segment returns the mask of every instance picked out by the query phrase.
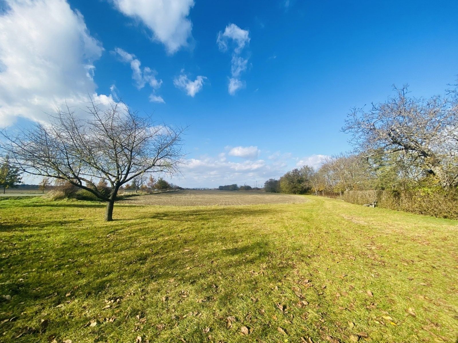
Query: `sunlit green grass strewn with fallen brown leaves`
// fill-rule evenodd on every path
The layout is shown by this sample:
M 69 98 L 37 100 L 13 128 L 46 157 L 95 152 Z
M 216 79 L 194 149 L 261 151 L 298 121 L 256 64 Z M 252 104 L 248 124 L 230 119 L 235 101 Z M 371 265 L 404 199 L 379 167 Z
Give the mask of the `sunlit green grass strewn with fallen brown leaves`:
M 456 341 L 458 221 L 309 198 L 0 201 L 0 341 Z

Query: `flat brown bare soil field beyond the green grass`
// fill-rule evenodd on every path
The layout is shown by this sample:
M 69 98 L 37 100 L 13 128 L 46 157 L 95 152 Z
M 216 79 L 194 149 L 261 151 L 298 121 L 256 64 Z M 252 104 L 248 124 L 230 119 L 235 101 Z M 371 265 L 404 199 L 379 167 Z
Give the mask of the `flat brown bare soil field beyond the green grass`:
M 208 205 L 255 205 L 255 204 L 301 204 L 305 197 L 291 194 L 262 193 L 251 191 L 183 190 L 178 192 L 139 195 L 120 201 L 123 204 L 208 206 Z

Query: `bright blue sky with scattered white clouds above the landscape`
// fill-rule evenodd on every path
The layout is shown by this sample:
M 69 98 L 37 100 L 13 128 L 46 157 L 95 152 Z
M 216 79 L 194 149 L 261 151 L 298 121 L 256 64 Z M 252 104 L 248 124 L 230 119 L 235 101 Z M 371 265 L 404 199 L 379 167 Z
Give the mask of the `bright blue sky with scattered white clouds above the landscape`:
M 317 166 L 349 150 L 339 130 L 350 107 L 384 101 L 392 84 L 443 94 L 458 74 L 457 1 L 0 4 L 0 120 L 121 96 L 190 125 L 172 179 L 185 187 Z

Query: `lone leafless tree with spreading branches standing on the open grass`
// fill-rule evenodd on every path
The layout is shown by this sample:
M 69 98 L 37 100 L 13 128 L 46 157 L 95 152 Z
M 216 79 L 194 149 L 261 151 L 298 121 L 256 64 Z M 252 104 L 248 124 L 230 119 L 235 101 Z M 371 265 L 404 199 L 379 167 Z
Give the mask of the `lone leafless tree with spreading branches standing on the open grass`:
M 124 103 L 103 109 L 92 103 L 88 116 L 78 118 L 69 107 L 16 132 L 0 131 L 2 154 L 20 171 L 66 180 L 106 201 L 105 220 L 113 220 L 120 187 L 145 172 L 178 171 L 184 156 L 184 129 L 140 116 Z M 105 180 L 104 194 L 93 178 Z

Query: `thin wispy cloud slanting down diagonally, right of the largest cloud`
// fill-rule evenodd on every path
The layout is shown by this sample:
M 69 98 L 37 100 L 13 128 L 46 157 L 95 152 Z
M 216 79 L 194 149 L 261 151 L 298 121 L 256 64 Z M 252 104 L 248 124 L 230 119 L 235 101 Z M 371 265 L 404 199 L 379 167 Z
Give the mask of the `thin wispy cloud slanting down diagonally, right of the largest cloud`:
M 161 96 L 155 95 L 155 91 L 162 86 L 162 80 L 156 79 L 156 75 L 158 74 L 156 70 L 152 70 L 149 67 L 142 69 L 140 60 L 137 59 L 134 54 L 129 54 L 121 48 L 114 48 L 114 54 L 116 54 L 122 62 L 131 65 L 132 79 L 135 81 L 137 89 L 142 89 L 148 84 L 153 88 L 153 93 L 149 96 L 150 101 L 165 103 Z M 158 99 L 160 100 L 158 101 Z

